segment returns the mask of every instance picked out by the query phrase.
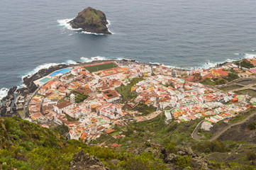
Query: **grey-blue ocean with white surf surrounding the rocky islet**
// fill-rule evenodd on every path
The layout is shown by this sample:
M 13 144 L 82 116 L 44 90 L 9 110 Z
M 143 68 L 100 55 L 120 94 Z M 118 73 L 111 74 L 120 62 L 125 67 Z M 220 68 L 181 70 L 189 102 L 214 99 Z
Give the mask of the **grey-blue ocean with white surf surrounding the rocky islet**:
M 255 0 L 0 4 L 0 98 L 22 77 L 60 63 L 124 58 L 190 69 L 256 55 Z M 65 20 L 88 6 L 106 14 L 113 35 L 69 29 Z

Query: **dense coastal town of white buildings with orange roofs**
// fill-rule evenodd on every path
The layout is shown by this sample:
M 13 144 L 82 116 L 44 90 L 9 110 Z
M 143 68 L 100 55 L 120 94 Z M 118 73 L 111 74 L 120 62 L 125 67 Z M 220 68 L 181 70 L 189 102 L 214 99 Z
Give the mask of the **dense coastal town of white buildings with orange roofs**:
M 256 98 L 235 91 L 247 85 L 233 81 L 254 79 L 255 65 L 255 59 L 195 70 L 138 62 L 84 63 L 34 81 L 38 90 L 23 116 L 45 128 L 65 125 L 69 139 L 87 142 L 114 134 L 116 125 L 151 120 L 161 113 L 166 124 L 204 118 L 201 128 L 209 130 L 254 108 Z

